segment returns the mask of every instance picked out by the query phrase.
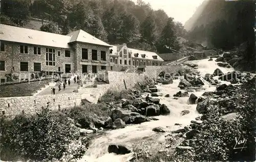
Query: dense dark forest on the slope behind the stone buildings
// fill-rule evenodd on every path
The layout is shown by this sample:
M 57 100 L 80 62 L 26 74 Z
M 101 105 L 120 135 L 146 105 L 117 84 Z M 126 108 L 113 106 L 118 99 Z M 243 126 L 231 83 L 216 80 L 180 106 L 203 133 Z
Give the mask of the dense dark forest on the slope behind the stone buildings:
M 1 23 L 22 27 L 29 17 L 51 21 L 42 31 L 68 34 L 82 29 L 110 44 L 126 43 L 159 53 L 180 49 L 185 30 L 163 10 L 138 0 L 2 0 Z M 57 24 L 57 26 L 56 26 Z

